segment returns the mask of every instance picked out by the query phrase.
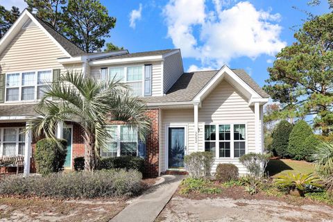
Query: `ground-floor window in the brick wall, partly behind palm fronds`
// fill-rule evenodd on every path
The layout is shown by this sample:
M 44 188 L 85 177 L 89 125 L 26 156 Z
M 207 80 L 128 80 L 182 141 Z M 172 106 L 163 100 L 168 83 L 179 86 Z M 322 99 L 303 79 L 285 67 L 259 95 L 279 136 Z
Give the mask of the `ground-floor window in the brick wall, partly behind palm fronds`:
M 126 125 L 109 126 L 110 140 L 107 150 L 101 151 L 102 157 L 116 157 L 120 155 L 137 156 L 137 130 Z

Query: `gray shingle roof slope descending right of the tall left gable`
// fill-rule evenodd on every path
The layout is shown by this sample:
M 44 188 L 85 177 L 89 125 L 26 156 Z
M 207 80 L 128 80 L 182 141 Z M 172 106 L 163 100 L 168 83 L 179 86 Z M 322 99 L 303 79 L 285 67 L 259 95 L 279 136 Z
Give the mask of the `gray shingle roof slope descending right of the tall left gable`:
M 47 22 L 44 22 L 42 19 L 38 18 L 37 16 L 33 15 L 35 19 L 46 29 L 52 37 L 56 39 L 56 41 L 69 53 L 71 56 L 83 56 L 87 53 L 80 49 L 76 44 L 69 41 L 65 36 L 58 33 L 53 27 L 50 26 Z

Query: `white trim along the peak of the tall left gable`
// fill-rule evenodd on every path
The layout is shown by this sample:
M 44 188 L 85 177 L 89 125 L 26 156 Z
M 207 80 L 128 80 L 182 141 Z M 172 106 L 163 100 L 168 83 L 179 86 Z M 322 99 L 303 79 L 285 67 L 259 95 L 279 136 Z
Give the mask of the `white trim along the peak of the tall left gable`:
M 37 19 L 35 19 L 35 17 L 33 17 L 33 15 L 31 15 L 31 13 L 28 12 L 28 10 L 24 10 L 22 12 L 22 14 L 16 20 L 16 22 L 14 24 L 12 24 L 10 29 L 1 38 L 1 40 L 0 40 L 0 54 L 3 52 L 3 50 L 6 49 L 8 44 L 10 44 L 10 42 L 14 39 L 15 35 L 17 35 L 17 33 L 19 33 L 22 26 L 24 26 L 24 24 L 28 21 L 28 19 L 31 19 L 37 25 L 37 27 L 42 29 L 42 31 L 44 31 L 44 33 L 47 35 L 47 37 L 49 37 L 52 40 L 52 42 L 54 44 L 56 44 L 63 53 L 65 53 L 66 56 L 71 57 L 71 55 L 64 49 L 64 47 L 62 47 L 59 44 L 59 42 L 57 42 L 56 39 L 48 31 L 46 31 L 46 29 L 37 21 Z

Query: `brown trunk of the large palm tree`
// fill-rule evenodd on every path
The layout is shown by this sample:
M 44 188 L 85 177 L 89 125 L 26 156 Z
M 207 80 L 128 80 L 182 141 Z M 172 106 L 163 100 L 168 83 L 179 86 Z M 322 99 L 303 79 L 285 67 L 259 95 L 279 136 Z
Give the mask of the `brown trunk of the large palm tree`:
M 97 167 L 95 138 L 92 133 L 85 133 L 85 171 L 94 171 Z

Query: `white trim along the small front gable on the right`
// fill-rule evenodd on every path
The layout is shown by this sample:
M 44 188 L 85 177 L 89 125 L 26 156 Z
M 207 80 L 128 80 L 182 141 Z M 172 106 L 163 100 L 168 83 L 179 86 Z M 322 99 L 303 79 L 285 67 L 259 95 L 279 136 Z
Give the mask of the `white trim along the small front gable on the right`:
M 212 80 L 210 80 L 210 82 L 194 97 L 193 101 L 200 102 L 203 96 L 207 94 L 209 89 L 214 87 L 216 83 L 219 83 L 223 78 L 225 78 L 225 74 L 227 74 L 228 76 L 230 76 L 230 78 L 234 79 L 237 83 L 239 83 L 239 85 L 251 95 L 251 98 L 262 99 L 262 96 L 255 92 L 255 90 L 252 89 L 247 83 L 245 83 L 244 80 L 241 80 L 241 78 L 239 78 L 237 74 L 235 74 L 234 71 L 232 71 L 228 66 L 224 65 L 217 72 L 214 78 L 212 78 Z

